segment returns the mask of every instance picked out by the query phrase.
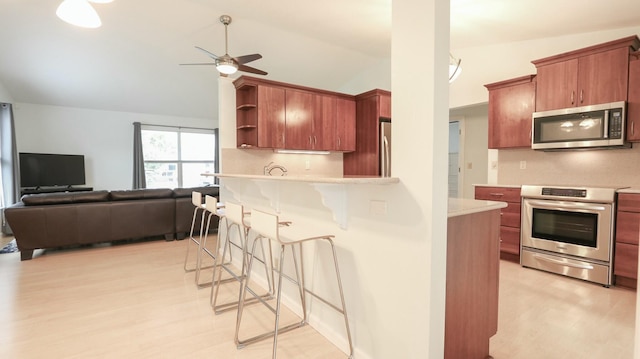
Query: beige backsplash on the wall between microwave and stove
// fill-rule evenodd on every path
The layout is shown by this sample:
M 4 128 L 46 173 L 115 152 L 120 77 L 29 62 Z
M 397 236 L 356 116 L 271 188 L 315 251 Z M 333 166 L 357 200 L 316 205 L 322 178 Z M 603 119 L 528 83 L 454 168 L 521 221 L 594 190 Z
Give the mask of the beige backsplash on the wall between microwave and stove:
M 640 144 L 611 150 L 500 150 L 498 184 L 640 187 Z

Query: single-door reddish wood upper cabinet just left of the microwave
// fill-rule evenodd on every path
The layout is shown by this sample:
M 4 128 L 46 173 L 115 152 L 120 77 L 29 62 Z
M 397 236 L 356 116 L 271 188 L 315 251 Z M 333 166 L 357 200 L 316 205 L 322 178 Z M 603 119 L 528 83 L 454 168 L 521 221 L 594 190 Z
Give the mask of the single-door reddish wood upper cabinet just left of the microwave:
M 531 147 L 536 76 L 485 85 L 489 90 L 489 148 Z

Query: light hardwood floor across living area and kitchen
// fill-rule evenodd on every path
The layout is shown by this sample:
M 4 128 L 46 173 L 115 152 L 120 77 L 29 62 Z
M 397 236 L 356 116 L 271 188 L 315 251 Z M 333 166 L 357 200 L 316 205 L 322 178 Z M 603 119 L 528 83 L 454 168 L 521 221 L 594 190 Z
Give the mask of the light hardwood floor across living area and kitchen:
M 25 262 L 1 254 L 0 358 L 270 358 L 269 340 L 236 349 L 235 312 L 213 314 L 209 289 L 182 270 L 184 249 L 184 241 L 159 240 L 37 251 Z M 256 324 L 243 330 L 268 329 L 271 317 L 250 308 L 246 322 Z M 634 313 L 634 291 L 502 262 L 491 354 L 630 359 Z M 309 326 L 281 335 L 278 354 L 346 357 Z

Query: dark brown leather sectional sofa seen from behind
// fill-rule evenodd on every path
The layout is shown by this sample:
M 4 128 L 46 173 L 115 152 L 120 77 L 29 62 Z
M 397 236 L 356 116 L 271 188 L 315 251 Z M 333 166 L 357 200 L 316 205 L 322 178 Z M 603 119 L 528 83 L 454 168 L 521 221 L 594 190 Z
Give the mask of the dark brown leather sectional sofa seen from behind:
M 219 196 L 218 186 L 128 191 L 34 194 L 5 209 L 21 260 L 35 249 L 189 234 L 194 206 L 191 192 Z M 200 229 L 197 217 L 196 228 Z M 213 216 L 211 228 L 216 230 Z

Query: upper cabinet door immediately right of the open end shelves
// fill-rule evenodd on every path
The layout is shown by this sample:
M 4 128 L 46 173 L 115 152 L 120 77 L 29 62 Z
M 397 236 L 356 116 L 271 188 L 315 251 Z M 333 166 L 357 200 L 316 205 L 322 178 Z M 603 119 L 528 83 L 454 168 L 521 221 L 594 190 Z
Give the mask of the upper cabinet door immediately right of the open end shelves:
M 258 147 L 284 148 L 285 91 L 258 86 Z

